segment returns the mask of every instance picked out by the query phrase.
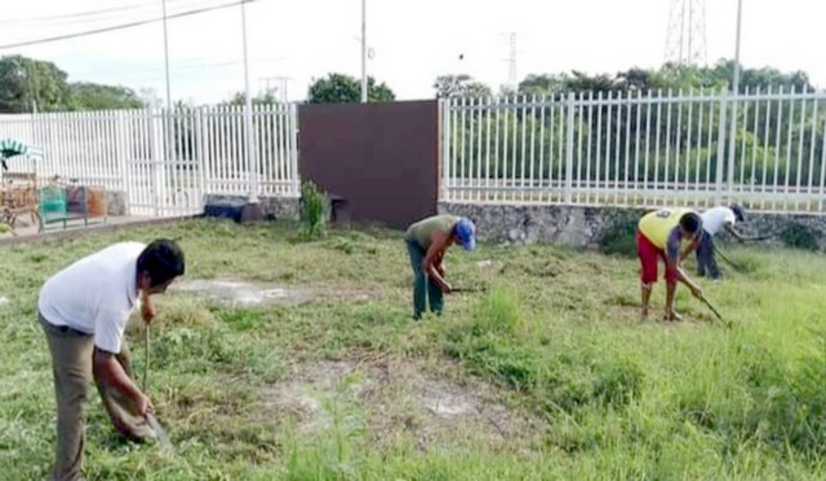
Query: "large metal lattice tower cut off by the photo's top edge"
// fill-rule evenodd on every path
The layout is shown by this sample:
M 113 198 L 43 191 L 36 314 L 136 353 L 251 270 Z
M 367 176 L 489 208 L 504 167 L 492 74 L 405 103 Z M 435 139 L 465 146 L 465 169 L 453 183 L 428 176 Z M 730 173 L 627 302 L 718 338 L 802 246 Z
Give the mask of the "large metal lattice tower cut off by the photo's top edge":
M 705 0 L 672 0 L 667 35 L 667 63 L 705 66 Z

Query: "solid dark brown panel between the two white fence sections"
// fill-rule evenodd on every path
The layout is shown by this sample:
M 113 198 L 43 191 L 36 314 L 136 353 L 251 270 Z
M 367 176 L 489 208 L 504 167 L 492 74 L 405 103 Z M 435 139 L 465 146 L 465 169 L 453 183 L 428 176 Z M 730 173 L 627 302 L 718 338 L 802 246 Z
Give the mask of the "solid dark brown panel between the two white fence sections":
M 298 111 L 301 178 L 346 200 L 349 219 L 404 229 L 436 213 L 439 104 L 306 104 Z

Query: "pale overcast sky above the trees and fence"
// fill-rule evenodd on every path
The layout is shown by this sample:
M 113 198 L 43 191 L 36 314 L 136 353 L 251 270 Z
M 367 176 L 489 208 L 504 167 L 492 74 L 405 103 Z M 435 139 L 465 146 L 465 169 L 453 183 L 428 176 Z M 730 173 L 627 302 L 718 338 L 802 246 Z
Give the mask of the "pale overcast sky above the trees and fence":
M 696 1 L 696 0 L 695 0 Z M 168 13 L 237 0 L 167 0 Z M 469 73 L 497 88 L 508 80 L 508 37 L 517 34 L 517 77 L 579 69 L 657 67 L 672 0 L 368 0 L 368 74 L 400 100 L 433 97 L 434 78 Z M 161 0 L 3 2 L 0 54 L 48 59 L 73 81 L 154 88 L 164 98 L 163 24 L 5 48 L 161 16 Z M 733 58 L 736 0 L 707 0 L 708 61 Z M 748 67 L 803 69 L 826 87 L 822 0 L 743 0 L 741 59 Z M 311 78 L 360 75 L 360 0 L 255 0 L 246 6 L 250 87 L 287 77 L 289 100 Z M 173 99 L 220 101 L 243 91 L 240 7 L 169 20 Z M 459 60 L 459 54 L 464 55 Z M 278 81 L 271 80 L 274 85 Z

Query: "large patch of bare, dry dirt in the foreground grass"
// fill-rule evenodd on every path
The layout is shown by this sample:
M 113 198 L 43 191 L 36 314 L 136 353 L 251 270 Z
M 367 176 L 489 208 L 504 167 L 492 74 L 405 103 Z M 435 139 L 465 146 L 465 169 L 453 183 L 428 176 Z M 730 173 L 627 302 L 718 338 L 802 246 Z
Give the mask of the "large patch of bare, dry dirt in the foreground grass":
M 262 415 L 287 417 L 305 434 L 364 425 L 374 442 L 411 436 L 421 449 L 469 436 L 507 445 L 529 440 L 539 426 L 498 402 L 487 384 L 425 374 L 408 362 L 387 360 L 297 365 L 263 393 Z

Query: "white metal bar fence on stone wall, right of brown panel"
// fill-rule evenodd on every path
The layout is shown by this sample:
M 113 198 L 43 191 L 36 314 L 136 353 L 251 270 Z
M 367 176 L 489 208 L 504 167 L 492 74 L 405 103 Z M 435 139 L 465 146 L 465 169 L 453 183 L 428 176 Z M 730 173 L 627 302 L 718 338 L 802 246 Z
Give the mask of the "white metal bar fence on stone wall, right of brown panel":
M 826 92 L 453 98 L 440 112 L 442 200 L 824 212 Z

